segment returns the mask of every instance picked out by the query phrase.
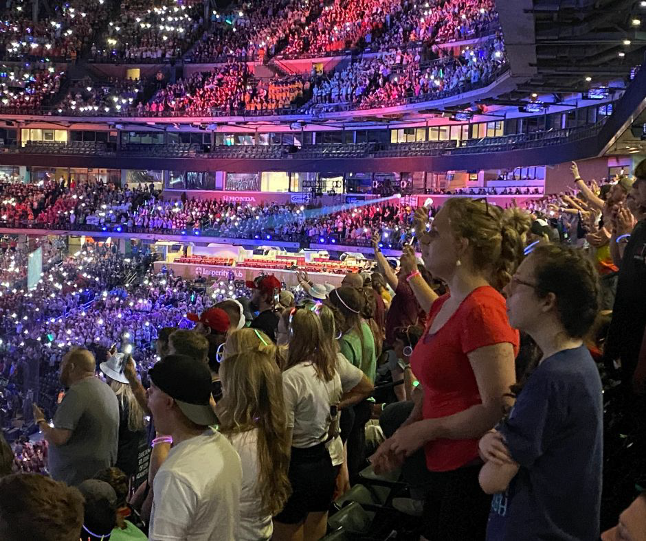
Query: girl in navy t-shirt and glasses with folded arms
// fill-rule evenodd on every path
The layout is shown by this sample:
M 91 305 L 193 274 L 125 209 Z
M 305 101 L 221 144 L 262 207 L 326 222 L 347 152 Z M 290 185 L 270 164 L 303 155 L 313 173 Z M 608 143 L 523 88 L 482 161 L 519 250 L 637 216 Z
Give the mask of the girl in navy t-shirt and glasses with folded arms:
M 493 494 L 487 541 L 599 539 L 601 378 L 583 336 L 597 316 L 597 273 L 575 250 L 538 246 L 506 288 L 509 323 L 542 358 L 509 416 L 480 440 Z

